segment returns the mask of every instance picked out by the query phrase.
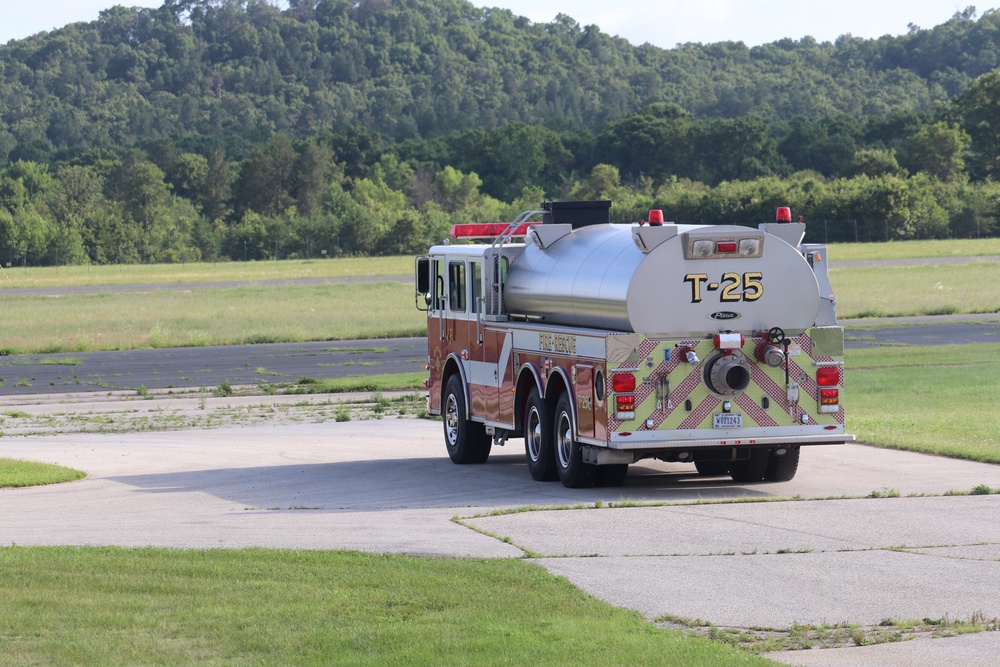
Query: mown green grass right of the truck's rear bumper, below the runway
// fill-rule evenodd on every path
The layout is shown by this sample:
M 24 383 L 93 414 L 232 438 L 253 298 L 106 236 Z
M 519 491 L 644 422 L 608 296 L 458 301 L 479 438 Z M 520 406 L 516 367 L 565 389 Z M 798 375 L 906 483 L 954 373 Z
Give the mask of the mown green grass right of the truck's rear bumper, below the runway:
M 848 350 L 844 372 L 861 442 L 1000 463 L 1000 343 Z

